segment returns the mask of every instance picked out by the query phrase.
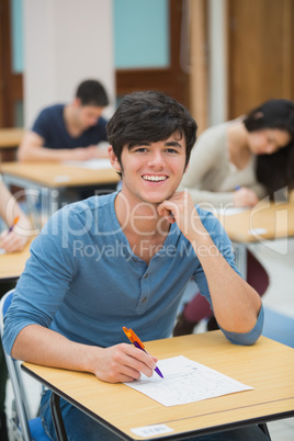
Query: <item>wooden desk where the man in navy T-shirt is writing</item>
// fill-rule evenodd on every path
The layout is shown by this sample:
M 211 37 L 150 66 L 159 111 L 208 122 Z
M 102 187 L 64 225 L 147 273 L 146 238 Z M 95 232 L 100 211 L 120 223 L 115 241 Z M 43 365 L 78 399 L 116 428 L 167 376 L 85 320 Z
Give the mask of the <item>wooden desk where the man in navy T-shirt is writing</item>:
M 48 216 L 60 207 L 61 190 L 87 185 L 108 190 L 108 184 L 120 180 L 113 168 L 93 170 L 61 162 L 5 162 L 1 165 L 1 172 L 8 186 L 16 185 L 42 194 Z

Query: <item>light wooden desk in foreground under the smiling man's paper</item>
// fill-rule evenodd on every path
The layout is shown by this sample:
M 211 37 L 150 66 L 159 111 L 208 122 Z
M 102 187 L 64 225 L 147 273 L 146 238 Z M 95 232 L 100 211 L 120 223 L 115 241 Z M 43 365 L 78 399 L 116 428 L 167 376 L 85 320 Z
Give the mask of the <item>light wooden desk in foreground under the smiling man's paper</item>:
M 139 440 L 131 428 L 167 425 L 184 439 L 294 416 L 294 349 L 261 337 L 255 346 L 230 344 L 220 331 L 146 343 L 158 359 L 185 355 L 255 387 L 253 391 L 165 407 L 124 384 L 89 373 L 24 363 L 23 370 L 55 394 L 103 423 L 124 440 Z M 183 437 L 184 436 L 184 437 Z

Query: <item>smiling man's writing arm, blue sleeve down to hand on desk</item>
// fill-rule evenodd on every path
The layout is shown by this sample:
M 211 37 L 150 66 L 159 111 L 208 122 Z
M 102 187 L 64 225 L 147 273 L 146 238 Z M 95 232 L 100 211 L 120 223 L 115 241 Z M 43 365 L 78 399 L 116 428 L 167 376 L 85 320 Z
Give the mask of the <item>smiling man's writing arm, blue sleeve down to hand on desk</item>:
M 63 210 L 52 216 L 33 242 L 31 258 L 4 317 L 3 347 L 16 359 L 91 372 L 111 383 L 138 378 L 139 372 L 150 376 L 157 360 L 132 344 L 120 343 L 104 349 L 71 341 L 49 329 L 77 270 L 74 233 L 84 226 L 82 217 L 72 215 L 68 222 L 74 233 L 67 229 L 66 235 L 53 235 L 52 228 L 59 231 L 65 225 L 65 213 L 69 215 L 71 208 Z M 61 246 L 65 236 L 68 242 Z M 80 326 L 87 326 L 81 323 Z

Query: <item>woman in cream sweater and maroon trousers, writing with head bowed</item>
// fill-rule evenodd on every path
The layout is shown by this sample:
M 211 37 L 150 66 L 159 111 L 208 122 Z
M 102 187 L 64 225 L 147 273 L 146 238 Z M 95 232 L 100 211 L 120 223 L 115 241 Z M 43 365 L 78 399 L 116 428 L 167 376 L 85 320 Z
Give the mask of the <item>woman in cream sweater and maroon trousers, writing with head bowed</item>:
M 255 206 L 260 199 L 294 186 L 294 102 L 270 100 L 247 116 L 207 128 L 192 151 L 180 189 L 193 202 L 210 207 Z M 269 276 L 248 250 L 247 281 L 262 295 Z M 210 304 L 196 295 L 188 303 L 173 335 L 191 333 L 203 318 L 213 316 Z M 208 329 L 216 329 L 214 317 Z

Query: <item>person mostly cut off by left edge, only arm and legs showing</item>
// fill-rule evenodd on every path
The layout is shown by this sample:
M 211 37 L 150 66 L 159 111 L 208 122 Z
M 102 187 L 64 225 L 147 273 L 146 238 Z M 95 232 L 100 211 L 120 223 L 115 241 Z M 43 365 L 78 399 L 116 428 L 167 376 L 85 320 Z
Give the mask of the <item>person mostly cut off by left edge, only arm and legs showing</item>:
M 13 225 L 13 220 L 19 217 L 16 226 L 9 231 L 9 228 Z M 4 231 L 0 235 L 0 252 L 4 250 L 5 252 L 21 251 L 27 240 L 29 233 L 31 230 L 31 223 L 25 214 L 20 208 L 15 199 L 5 188 L 4 183 L 1 181 L 0 176 L 0 218 L 8 226 Z M 0 298 L 12 287 L 14 284 L 11 282 L 0 282 Z M 2 343 L 0 341 L 0 440 L 8 441 L 8 430 L 7 430 L 7 416 L 5 416 L 5 388 L 7 388 L 7 363 L 4 359 L 4 353 L 2 349 Z

